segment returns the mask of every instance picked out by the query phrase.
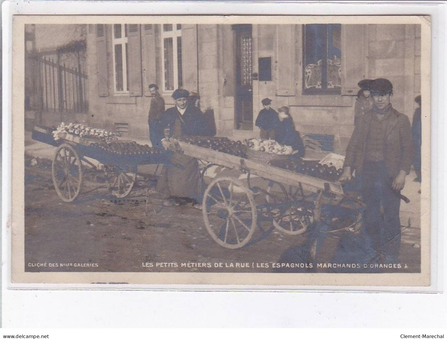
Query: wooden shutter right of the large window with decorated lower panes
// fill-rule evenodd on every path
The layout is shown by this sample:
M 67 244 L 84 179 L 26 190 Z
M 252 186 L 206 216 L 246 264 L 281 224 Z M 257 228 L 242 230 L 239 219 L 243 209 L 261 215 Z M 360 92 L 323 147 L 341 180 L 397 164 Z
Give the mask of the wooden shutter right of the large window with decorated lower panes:
M 342 95 L 357 95 L 367 76 L 367 25 L 342 25 Z

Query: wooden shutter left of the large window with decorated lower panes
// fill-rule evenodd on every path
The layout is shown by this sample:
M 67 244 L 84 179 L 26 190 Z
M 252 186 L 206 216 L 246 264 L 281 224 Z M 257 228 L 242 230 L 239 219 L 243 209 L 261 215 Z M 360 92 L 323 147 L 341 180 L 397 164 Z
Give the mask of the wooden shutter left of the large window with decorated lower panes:
M 276 95 L 296 94 L 296 25 L 277 25 L 278 79 Z

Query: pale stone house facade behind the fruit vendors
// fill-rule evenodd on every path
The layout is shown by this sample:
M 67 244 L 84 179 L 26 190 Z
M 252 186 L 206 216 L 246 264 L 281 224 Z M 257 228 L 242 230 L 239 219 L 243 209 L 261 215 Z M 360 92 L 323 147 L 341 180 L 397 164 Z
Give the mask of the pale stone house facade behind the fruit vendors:
M 155 30 L 155 48 L 142 53 L 142 64 L 147 58 L 156 60 L 156 78 L 143 76 L 143 89 L 151 82 L 161 86 L 160 32 Z M 253 120 L 261 110 L 261 100 L 270 97 L 272 107 L 289 106 L 297 130 L 307 133 L 334 136 L 335 152 L 344 154 L 346 145 L 354 129 L 355 94 L 350 95 L 303 95 L 302 94 L 302 26 L 291 30 L 290 44 L 294 48 L 294 64 L 288 72 L 293 72 L 295 88 L 289 93 L 278 90 L 283 81 L 280 71 L 283 62 L 278 60 L 277 25 L 253 25 L 253 72 L 258 71 L 260 57 L 272 58 L 272 81 L 253 81 Z M 393 106 L 410 119 L 415 108 L 414 97 L 420 93 L 420 27 L 418 25 L 364 25 L 360 43 L 364 44 L 367 60 L 364 78 L 386 77 L 394 85 Z M 281 35 L 281 34 L 279 34 Z M 101 62 L 108 63 L 109 95 L 100 97 L 97 89 L 97 51 L 94 25 L 89 25 L 89 105 L 86 119 L 93 126 L 113 129 L 114 123 L 128 123 L 129 136 L 148 137 L 147 114 L 150 97 L 143 90 L 142 96 L 115 95 L 113 91 L 113 65 L 111 32 L 107 30 L 107 57 Z M 142 42 L 144 42 L 142 38 Z M 197 91 L 201 96 L 202 111 L 214 110 L 219 136 L 236 139 L 258 136 L 257 127 L 253 131 L 239 131 L 234 128 L 235 79 L 234 41 L 231 25 L 183 25 L 182 64 L 184 88 Z M 281 43 L 283 43 L 281 41 Z M 142 45 L 142 48 L 145 48 Z M 348 53 L 349 48 L 342 53 Z M 282 73 L 284 74 L 284 73 Z M 357 81 L 357 80 L 356 80 Z M 162 93 L 166 108 L 174 104 L 170 93 Z

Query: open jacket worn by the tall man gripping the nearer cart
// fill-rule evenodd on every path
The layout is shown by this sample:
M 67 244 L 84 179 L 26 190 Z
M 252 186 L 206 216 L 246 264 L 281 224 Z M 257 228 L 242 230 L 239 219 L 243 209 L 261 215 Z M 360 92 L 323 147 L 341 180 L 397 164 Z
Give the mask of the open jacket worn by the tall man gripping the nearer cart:
M 394 108 L 391 108 L 390 113 L 391 116 L 385 132 L 384 160 L 388 173 L 395 177 L 401 169 L 406 174 L 410 173 L 414 149 L 408 117 Z M 359 117 L 346 148 L 344 165 L 356 169 L 358 173 L 363 169 L 366 141 L 373 114 L 376 113 L 369 110 Z

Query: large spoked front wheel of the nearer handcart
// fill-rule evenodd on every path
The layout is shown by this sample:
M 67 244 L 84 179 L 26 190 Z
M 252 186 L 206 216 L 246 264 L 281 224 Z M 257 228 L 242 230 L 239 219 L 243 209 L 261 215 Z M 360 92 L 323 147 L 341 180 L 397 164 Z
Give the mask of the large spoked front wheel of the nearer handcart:
M 216 178 L 208 185 L 202 213 L 208 233 L 225 248 L 244 246 L 256 228 L 253 193 L 236 178 Z

